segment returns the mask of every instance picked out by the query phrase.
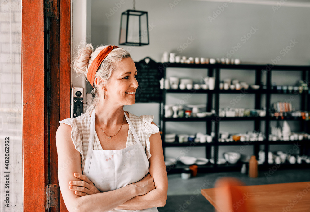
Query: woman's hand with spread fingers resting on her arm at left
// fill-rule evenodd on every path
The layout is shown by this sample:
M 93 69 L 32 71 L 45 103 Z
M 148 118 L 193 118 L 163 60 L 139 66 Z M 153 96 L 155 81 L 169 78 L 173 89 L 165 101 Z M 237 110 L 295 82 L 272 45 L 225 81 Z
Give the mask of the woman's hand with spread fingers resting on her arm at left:
M 74 191 L 78 196 L 85 196 L 88 194 L 101 193 L 93 182 L 91 182 L 85 175 L 74 173 L 74 177 L 79 178 L 82 181 L 70 181 L 69 189 Z

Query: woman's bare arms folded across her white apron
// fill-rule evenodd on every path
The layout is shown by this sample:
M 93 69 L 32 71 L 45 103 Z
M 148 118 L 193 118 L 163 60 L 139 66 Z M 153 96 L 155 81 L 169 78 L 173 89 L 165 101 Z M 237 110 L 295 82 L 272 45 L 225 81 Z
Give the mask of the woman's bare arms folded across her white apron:
M 153 122 L 152 122 L 153 123 Z M 58 177 L 64 202 L 69 211 L 110 211 L 112 209 L 141 210 L 164 206 L 167 198 L 167 173 L 162 153 L 160 134 L 150 136 L 149 173 L 140 181 L 114 191 L 97 192 L 88 180 L 81 181 L 80 153 L 71 139 L 71 126 L 61 124 L 56 133 L 58 152 Z M 77 173 L 77 175 L 73 175 Z M 78 181 L 81 181 L 78 183 Z M 69 186 L 69 182 L 70 186 Z M 92 189 L 91 195 L 84 195 L 85 182 Z M 73 186 L 73 187 L 71 187 Z M 79 193 L 81 192 L 81 193 Z

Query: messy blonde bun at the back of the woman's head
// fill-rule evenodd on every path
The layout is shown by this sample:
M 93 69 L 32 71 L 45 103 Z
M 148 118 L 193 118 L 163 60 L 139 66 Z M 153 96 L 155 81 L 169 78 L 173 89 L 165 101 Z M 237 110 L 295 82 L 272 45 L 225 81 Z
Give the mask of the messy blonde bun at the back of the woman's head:
M 72 68 L 78 75 L 87 77 L 89 61 L 94 48 L 92 44 L 82 43 L 78 45 L 77 55 L 72 60 Z

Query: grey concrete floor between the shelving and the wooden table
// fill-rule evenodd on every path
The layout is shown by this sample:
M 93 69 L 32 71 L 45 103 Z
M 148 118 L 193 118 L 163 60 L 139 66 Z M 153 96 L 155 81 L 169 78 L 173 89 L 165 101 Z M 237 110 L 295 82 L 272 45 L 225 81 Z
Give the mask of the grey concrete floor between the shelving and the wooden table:
M 265 174 L 266 173 L 266 174 Z M 267 175 L 267 177 L 266 177 Z M 262 185 L 286 182 L 310 181 L 309 169 L 276 170 L 259 172 L 259 177 L 252 179 L 240 172 L 221 172 L 200 174 L 188 180 L 182 180 L 181 174 L 168 175 L 168 197 L 164 207 L 158 207 L 159 212 L 213 212 L 214 207 L 201 195 L 201 189 L 214 188 L 214 184 L 220 177 L 235 177 L 246 185 Z M 186 201 L 192 200 L 186 208 Z

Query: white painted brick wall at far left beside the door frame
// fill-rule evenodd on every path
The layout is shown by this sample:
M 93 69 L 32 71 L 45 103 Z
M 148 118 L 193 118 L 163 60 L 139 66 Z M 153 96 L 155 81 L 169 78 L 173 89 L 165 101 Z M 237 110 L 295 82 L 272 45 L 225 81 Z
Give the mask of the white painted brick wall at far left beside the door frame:
M 0 0 L 0 211 L 23 211 L 21 98 L 21 0 Z M 5 137 L 10 137 L 9 169 L 5 169 Z M 4 171 L 9 189 L 4 188 Z M 9 207 L 5 191 L 9 190 Z

